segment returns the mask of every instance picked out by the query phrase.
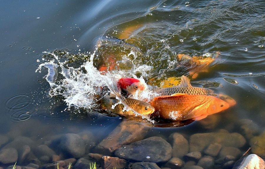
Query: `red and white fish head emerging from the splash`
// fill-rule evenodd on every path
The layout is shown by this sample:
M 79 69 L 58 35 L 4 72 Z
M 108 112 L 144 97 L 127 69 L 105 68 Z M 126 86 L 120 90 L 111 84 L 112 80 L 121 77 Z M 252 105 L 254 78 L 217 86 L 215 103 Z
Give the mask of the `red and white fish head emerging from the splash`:
M 124 90 L 127 95 L 135 94 L 137 90 L 141 92 L 147 88 L 144 80 L 138 80 L 134 78 L 120 78 L 117 82 L 117 85 Z

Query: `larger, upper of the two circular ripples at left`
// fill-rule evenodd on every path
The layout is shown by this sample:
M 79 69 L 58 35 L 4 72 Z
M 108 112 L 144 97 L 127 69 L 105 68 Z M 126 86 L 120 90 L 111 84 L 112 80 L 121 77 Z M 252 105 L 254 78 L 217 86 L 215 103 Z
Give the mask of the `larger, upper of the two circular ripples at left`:
M 31 103 L 31 100 L 28 95 L 21 94 L 14 97 L 11 97 L 6 102 L 6 107 L 9 110 L 19 110 L 27 107 Z

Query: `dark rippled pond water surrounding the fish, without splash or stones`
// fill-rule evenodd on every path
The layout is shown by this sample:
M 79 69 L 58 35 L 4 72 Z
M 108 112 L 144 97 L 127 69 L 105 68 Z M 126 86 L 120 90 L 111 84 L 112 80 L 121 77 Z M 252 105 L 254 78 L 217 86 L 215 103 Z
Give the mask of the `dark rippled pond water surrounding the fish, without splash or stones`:
M 265 127 L 265 3 L 263 1 L 6 1 L 0 7 L 0 134 L 9 141 L 30 137 L 38 144 L 48 136 L 90 131 L 95 144 L 124 119 L 86 112 L 76 116 L 66 103 L 50 98 L 47 69 L 35 72 L 43 52 L 66 50 L 77 54 L 95 50 L 102 36 L 122 35 L 137 27 L 125 42 L 143 53 L 136 66 L 153 68 L 145 80 L 179 77 L 182 72 L 168 64 L 178 53 L 200 56 L 221 52 L 210 67 L 191 82 L 193 86 L 217 84 L 237 104 L 224 112 L 177 128 L 152 127 L 145 138 L 179 132 L 188 139 L 195 133 L 241 133 L 242 119 L 256 124 L 254 136 Z M 118 51 L 119 52 L 119 51 Z M 104 56 L 99 56 L 99 60 Z M 39 62 L 40 61 L 40 62 Z M 99 63 L 96 61 L 95 64 Z M 78 66 L 81 66 L 78 65 Z M 98 66 L 98 65 L 96 65 Z M 155 76 L 159 75 L 159 76 Z M 208 82 L 210 81 L 210 82 Z M 72 112 L 73 114 L 74 112 Z M 209 123 L 209 124 L 208 124 Z M 147 123 L 149 124 L 149 122 Z M 151 125 L 151 124 L 150 124 Z M 1 146 L 1 145 L 0 145 Z M 264 144 L 260 156 L 264 157 Z M 1 147 L 0 147 L 1 148 Z M 20 148 L 20 147 L 17 147 Z M 257 153 L 257 152 L 254 152 Z M 1 165 L 0 165 L 1 166 Z

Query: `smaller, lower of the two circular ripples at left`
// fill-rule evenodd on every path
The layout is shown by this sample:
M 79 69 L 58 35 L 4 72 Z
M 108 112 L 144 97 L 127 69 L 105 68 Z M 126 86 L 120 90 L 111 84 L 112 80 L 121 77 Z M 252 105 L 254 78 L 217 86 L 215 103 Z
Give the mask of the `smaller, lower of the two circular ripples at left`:
M 32 112 L 28 109 L 12 111 L 10 117 L 14 122 L 26 122 L 32 118 Z

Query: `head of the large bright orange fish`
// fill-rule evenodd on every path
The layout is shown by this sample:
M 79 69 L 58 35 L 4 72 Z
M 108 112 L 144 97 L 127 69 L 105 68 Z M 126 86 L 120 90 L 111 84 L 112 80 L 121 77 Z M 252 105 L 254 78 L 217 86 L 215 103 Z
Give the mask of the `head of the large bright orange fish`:
M 210 115 L 210 114 L 218 113 L 220 111 L 228 109 L 229 107 L 230 105 L 227 102 L 217 97 L 213 97 L 211 102 L 209 102 L 207 114 Z

